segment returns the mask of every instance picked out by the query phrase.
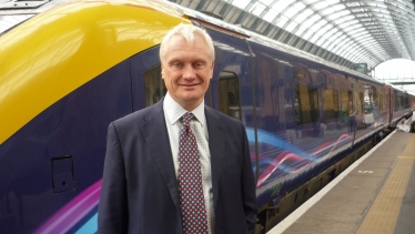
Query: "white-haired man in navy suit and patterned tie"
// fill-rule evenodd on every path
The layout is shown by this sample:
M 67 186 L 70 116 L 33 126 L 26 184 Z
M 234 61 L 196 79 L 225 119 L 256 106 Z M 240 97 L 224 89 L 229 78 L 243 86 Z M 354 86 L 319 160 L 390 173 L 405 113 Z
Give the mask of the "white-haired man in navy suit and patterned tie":
M 163 39 L 160 59 L 165 98 L 109 126 L 98 232 L 254 233 L 245 128 L 204 105 L 212 39 L 180 24 Z

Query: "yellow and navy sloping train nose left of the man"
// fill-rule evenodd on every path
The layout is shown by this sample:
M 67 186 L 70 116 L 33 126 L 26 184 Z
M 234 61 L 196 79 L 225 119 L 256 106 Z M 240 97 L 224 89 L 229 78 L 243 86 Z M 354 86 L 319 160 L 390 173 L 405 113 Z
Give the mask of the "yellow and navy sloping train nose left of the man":
M 73 1 L 0 37 L 0 233 L 97 232 L 107 128 L 146 106 L 142 73 L 181 22 L 151 1 Z

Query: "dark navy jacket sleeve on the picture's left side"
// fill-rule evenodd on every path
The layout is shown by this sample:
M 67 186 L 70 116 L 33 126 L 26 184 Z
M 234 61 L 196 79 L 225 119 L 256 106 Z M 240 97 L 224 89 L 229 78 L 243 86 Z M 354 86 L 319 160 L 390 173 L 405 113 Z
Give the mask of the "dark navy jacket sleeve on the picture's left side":
M 98 210 L 98 233 L 126 233 L 125 169 L 120 139 L 115 125 L 108 129 L 107 153 Z

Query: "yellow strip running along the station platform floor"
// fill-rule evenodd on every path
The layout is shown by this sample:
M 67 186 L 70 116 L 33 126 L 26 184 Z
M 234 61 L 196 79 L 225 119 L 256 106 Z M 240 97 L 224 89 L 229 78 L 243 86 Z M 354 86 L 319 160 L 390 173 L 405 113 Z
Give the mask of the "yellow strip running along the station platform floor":
M 357 234 L 394 233 L 402 202 L 415 161 L 415 134 L 397 157 L 396 163 L 379 194 L 363 221 Z

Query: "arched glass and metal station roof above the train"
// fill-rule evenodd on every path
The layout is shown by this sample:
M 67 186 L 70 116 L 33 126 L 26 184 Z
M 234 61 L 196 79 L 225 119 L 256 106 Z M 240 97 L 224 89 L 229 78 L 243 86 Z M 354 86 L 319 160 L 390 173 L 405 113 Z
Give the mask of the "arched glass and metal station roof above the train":
M 348 68 L 415 60 L 409 0 L 171 1 Z

